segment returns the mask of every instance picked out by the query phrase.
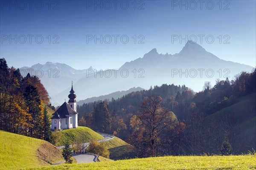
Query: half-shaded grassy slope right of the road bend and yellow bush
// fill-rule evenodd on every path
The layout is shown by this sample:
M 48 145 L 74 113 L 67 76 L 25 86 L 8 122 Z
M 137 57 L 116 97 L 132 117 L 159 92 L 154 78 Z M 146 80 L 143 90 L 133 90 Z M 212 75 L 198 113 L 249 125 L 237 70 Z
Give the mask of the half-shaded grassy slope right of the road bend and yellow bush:
M 136 151 L 133 146 L 124 142 L 122 139 L 115 137 L 114 139 L 104 142 L 110 152 L 110 159 L 126 159 L 135 158 Z

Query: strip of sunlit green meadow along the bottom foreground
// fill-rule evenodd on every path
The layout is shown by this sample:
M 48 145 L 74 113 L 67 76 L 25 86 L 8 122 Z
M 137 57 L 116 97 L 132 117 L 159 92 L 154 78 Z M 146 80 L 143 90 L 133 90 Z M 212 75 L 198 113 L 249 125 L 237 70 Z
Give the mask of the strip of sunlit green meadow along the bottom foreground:
M 63 164 L 39 167 L 41 170 L 251 170 L 256 169 L 256 155 L 242 156 L 166 156 L 144 159 L 105 161 L 87 164 Z M 34 168 L 33 168 L 34 169 Z

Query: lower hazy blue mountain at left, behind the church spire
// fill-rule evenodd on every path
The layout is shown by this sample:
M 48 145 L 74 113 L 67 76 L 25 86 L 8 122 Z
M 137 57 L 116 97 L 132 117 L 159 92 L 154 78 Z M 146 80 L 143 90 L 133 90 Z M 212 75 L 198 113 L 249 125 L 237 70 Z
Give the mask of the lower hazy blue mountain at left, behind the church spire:
M 67 87 L 71 87 L 71 81 L 76 83 L 79 79 L 86 77 L 88 70 L 93 72 L 94 68 L 76 70 L 66 64 L 46 62 L 45 64 L 38 63 L 31 67 L 22 67 L 20 68 L 20 73 L 23 76 L 26 76 L 27 73 L 36 74 L 40 77 L 41 82 L 52 97 L 61 93 Z

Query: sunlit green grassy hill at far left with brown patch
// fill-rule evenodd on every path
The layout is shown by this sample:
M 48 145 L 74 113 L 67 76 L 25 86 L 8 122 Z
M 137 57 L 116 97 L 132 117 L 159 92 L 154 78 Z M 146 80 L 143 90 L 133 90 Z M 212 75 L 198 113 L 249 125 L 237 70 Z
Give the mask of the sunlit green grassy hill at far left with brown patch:
M 0 169 L 42 166 L 64 160 L 47 141 L 0 130 Z

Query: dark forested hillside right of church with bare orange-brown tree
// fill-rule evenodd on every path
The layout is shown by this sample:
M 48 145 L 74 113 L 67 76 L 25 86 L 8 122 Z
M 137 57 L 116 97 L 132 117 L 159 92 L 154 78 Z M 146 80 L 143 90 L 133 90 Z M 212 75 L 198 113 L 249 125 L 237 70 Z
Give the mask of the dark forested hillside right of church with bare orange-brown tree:
M 226 144 L 228 154 L 255 148 L 256 71 L 202 87 L 195 93 L 185 85 L 163 84 L 87 103 L 78 107 L 79 119 L 93 130 L 125 139 L 139 156 L 218 154 Z

